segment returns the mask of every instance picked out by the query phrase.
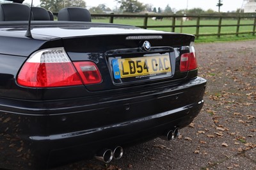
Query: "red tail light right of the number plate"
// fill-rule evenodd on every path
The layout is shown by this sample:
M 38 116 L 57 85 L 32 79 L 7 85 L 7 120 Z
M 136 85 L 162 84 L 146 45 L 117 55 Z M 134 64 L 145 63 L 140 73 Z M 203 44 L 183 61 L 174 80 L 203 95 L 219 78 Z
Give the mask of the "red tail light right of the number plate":
M 197 68 L 196 54 L 194 43 L 189 45 L 189 52 L 180 56 L 180 72 L 187 72 Z

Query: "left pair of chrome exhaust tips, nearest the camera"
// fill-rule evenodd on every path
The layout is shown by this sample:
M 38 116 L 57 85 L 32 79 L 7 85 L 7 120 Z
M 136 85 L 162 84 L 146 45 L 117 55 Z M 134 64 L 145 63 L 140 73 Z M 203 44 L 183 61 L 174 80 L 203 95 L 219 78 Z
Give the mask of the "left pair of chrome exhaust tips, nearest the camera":
M 111 162 L 111 160 L 113 158 L 116 160 L 122 158 L 123 154 L 124 154 L 123 148 L 121 146 L 117 146 L 113 150 L 104 149 L 104 150 L 99 151 L 95 155 L 95 158 L 97 160 L 100 160 L 101 162 L 108 164 L 109 162 Z

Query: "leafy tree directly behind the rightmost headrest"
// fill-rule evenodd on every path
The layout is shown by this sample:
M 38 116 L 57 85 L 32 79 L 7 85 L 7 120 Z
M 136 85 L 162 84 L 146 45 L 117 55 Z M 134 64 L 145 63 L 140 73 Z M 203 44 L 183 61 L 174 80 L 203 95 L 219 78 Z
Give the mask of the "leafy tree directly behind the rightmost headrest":
M 40 6 L 51 12 L 59 12 L 62 8 L 67 6 L 79 6 L 85 8 L 86 3 L 83 0 L 40 0 Z

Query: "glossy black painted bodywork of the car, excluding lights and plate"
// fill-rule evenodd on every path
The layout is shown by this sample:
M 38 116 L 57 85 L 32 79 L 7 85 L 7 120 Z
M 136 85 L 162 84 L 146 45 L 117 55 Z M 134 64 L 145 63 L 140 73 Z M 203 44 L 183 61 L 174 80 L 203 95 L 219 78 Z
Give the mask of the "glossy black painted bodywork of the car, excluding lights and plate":
M 102 148 L 129 146 L 183 128 L 204 104 L 205 79 L 197 70 L 179 71 L 180 50 L 195 37 L 129 26 L 83 22 L 0 23 L 0 167 L 51 167 L 92 158 Z M 140 49 L 131 35 L 161 35 Z M 72 61 L 93 61 L 100 84 L 65 88 L 26 88 L 16 82 L 36 50 L 65 47 Z M 173 75 L 115 84 L 111 59 L 170 54 Z

